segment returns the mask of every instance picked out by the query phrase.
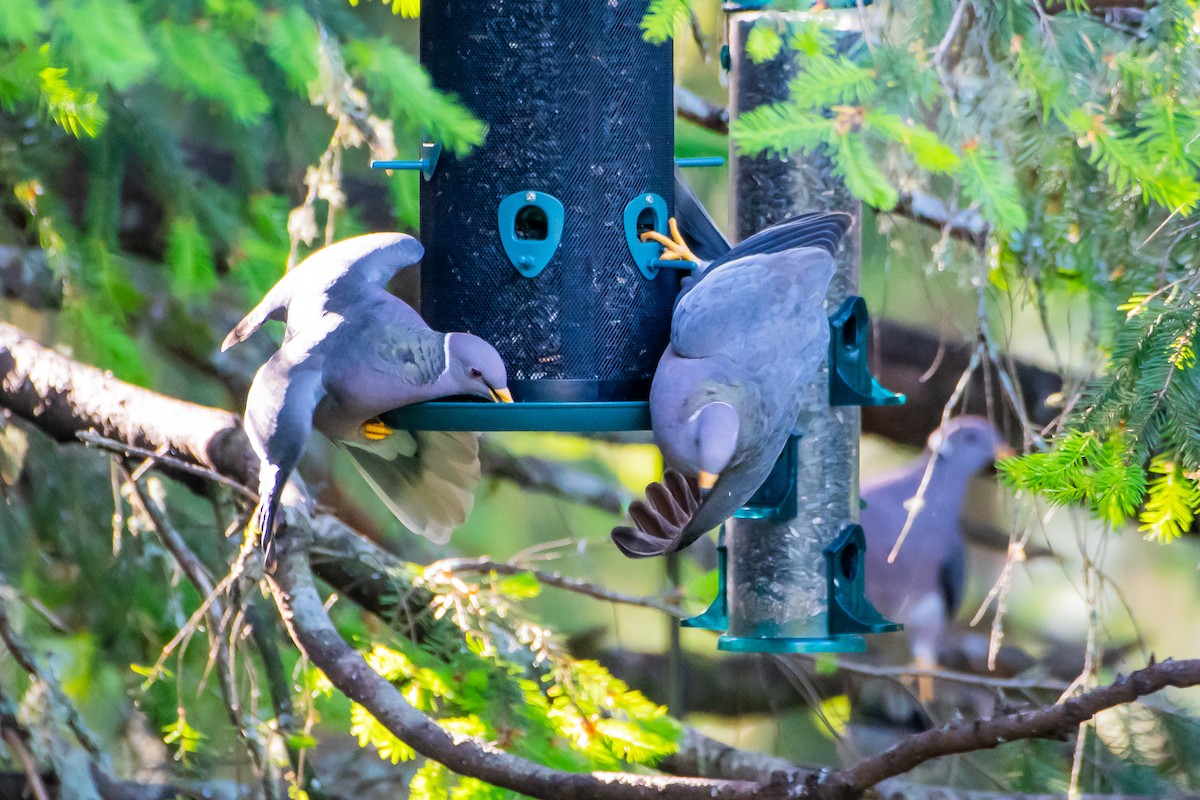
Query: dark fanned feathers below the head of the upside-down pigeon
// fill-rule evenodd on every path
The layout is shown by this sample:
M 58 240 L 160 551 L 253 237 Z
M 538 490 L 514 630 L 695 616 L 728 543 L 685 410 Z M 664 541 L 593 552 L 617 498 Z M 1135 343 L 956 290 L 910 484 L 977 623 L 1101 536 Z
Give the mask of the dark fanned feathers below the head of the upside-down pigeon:
M 642 559 L 674 553 L 684 547 L 684 529 L 700 509 L 700 486 L 673 469 L 661 483 L 646 487 L 646 500 L 634 500 L 629 516 L 636 528 L 612 529 L 612 541 L 628 558 Z

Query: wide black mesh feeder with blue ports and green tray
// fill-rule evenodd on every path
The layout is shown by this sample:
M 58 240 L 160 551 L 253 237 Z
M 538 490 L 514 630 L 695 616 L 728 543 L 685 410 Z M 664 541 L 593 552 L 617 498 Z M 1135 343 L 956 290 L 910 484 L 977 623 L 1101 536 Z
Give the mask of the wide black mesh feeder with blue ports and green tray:
M 422 169 L 421 314 L 492 342 L 518 402 L 430 404 L 392 421 L 648 428 L 679 287 L 661 247 L 640 239 L 666 233 L 673 205 L 671 47 L 642 38 L 647 0 L 480 5 L 428 4 L 421 62 L 487 124 L 486 142 L 374 166 Z

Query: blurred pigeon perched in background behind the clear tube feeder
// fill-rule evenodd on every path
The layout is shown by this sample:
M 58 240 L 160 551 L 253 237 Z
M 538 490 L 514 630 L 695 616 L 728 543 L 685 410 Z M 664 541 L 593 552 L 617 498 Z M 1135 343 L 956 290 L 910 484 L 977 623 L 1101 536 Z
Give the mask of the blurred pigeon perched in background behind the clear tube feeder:
M 942 636 L 962 602 L 966 546 L 959 517 L 967 487 L 977 473 L 1010 455 L 991 422 L 959 416 L 930 435 L 920 457 L 863 487 L 866 596 L 881 614 L 904 624 L 920 669 L 937 666 Z M 892 559 L 930 464 L 923 504 Z M 931 696 L 928 680 L 920 693 Z

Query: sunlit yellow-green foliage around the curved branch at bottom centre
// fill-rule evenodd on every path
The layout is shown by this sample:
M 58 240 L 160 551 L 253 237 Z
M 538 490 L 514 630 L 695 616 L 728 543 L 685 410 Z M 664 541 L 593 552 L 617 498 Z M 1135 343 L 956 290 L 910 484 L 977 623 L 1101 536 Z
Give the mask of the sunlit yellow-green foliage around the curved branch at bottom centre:
M 470 583 L 434 567 L 422 582 L 436 619 L 448 625 L 421 646 L 376 643 L 366 660 L 448 732 L 572 771 L 653 765 L 677 748 L 680 727 L 666 709 L 599 663 L 572 658 L 550 631 L 527 621 L 520 602 L 539 594 L 533 575 Z M 365 709 L 352 708 L 350 726 L 382 758 L 412 757 Z M 437 766 L 419 770 L 409 788 L 413 796 L 476 796 Z

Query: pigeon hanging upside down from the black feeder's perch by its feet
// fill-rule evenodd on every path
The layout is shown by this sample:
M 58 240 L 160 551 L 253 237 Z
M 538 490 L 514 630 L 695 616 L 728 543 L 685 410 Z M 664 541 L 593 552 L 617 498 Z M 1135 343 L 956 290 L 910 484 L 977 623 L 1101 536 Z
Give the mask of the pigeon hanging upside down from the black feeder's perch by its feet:
M 683 192 L 677 180 L 677 193 Z M 684 240 L 710 251 L 720 233 L 690 199 L 689 205 L 677 197 L 678 207 L 703 215 L 684 221 L 703 236 L 682 233 L 674 219 L 672 239 L 646 234 L 664 245 L 665 259 L 701 265 L 684 281 L 671 343 L 650 387 L 654 439 L 667 471 L 662 483 L 647 487 L 644 503 L 630 506 L 637 527 L 612 531 L 630 558 L 688 547 L 732 516 L 770 474 L 796 427 L 800 390 L 826 357 L 824 295 L 851 224 L 846 213 L 802 215 L 703 264 Z

